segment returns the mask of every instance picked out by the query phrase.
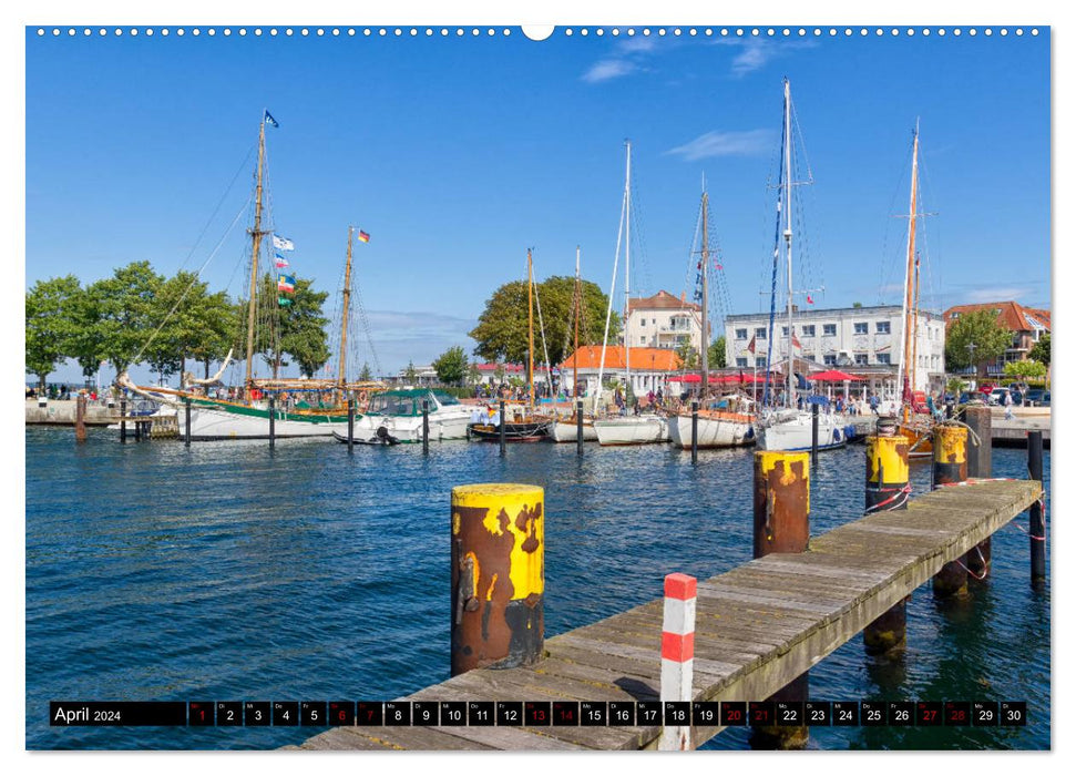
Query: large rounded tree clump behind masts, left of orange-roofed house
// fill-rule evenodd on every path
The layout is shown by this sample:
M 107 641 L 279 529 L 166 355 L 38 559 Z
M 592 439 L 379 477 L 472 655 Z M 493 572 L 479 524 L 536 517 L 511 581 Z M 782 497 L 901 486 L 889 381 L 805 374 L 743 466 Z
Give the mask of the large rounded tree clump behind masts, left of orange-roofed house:
M 575 349 L 575 326 L 572 300 L 575 278 L 550 277 L 535 284 L 545 324 L 545 345 L 553 365 L 564 361 Z M 580 345 L 601 345 L 605 333 L 605 310 L 608 297 L 597 284 L 582 282 L 583 315 L 580 321 Z M 616 313 L 609 321 L 609 341 L 621 330 Z M 527 293 L 526 282 L 513 280 L 498 288 L 485 303 L 479 325 L 470 333 L 478 343 L 474 353 L 486 361 L 505 360 L 523 364 L 527 356 Z M 542 334 L 539 328 L 537 303 L 534 308 L 534 361 L 544 360 Z

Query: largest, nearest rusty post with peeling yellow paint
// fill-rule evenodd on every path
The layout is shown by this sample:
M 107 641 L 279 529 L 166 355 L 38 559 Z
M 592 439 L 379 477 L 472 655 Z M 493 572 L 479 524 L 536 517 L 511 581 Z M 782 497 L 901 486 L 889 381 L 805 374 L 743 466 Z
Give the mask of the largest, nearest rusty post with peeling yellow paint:
M 543 654 L 545 491 L 452 489 L 452 675 L 512 668 Z

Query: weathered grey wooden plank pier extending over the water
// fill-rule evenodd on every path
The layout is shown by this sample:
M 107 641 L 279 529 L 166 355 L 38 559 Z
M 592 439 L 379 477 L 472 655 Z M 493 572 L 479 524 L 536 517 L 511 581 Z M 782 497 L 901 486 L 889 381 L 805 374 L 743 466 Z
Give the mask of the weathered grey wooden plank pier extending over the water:
M 1036 503 L 1037 481 L 941 488 L 698 583 L 694 700 L 762 701 Z M 675 571 L 670 569 L 669 571 Z M 655 584 L 657 580 L 655 580 Z M 445 615 L 448 627 L 448 614 Z M 402 701 L 656 701 L 663 601 L 545 642 L 529 667 L 479 668 Z M 693 727 L 694 746 L 721 727 Z M 334 727 L 304 749 L 646 749 L 649 727 Z

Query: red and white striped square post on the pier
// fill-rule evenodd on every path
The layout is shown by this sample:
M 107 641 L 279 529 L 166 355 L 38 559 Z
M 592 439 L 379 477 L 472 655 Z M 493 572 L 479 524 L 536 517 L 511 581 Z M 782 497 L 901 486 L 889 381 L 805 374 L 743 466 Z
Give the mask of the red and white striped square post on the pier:
M 698 580 L 687 574 L 665 578 L 665 613 L 662 625 L 662 703 L 694 700 L 695 602 Z M 662 728 L 657 748 L 664 752 L 691 748 L 691 726 Z

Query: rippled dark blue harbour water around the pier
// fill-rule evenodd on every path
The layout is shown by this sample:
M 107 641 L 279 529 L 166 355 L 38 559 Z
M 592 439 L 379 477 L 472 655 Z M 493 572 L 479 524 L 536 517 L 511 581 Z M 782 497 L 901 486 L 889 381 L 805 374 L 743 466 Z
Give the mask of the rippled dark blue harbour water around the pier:
M 546 635 L 659 598 L 672 571 L 707 578 L 751 557 L 750 450 L 445 442 L 119 443 L 28 429 L 27 746 L 271 748 L 318 728 L 58 728 L 49 701 L 390 700 L 449 676 L 449 493 L 541 484 Z M 1026 452 L 994 449 L 995 477 Z M 928 466 L 913 466 L 916 492 Z M 1046 458 L 1048 487 L 1049 455 Z M 811 531 L 862 513 L 862 447 L 824 452 Z M 1026 528 L 1027 515 L 1017 523 Z M 855 639 L 811 670 L 819 700 L 1028 702 L 1026 727 L 813 728 L 811 747 L 1051 745 L 1051 592 L 1028 583 L 1028 539 L 994 537 L 993 576 L 963 605 L 930 585 L 908 606 L 908 651 Z M 525 698 L 520 698 L 525 700 Z M 747 748 L 730 728 L 707 748 Z

